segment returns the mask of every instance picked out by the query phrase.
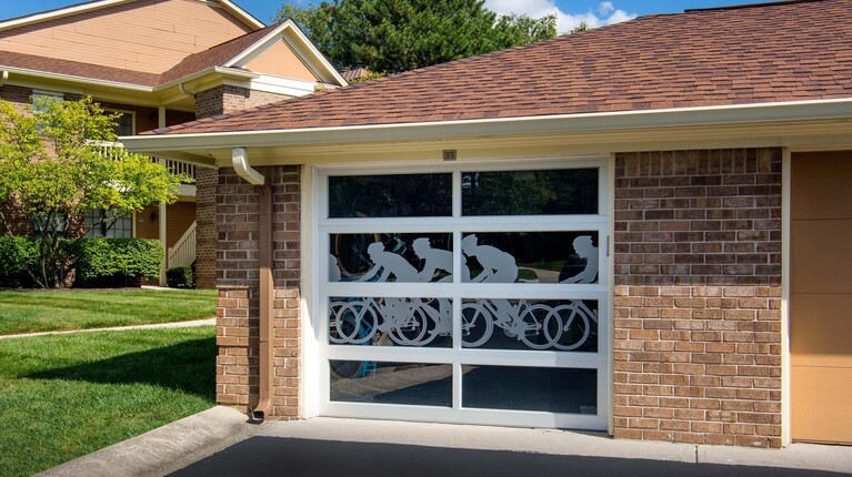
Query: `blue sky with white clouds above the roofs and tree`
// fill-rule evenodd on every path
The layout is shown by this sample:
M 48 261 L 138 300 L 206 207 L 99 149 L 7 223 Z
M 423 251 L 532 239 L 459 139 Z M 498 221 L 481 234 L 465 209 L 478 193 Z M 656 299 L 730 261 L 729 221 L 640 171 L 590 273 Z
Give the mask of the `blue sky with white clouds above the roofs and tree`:
M 80 0 L 1 0 L 3 3 L 0 19 L 20 17 L 39 11 L 51 10 Z M 248 10 L 261 21 L 269 23 L 281 1 L 278 0 L 235 0 L 237 4 Z M 319 2 L 319 1 L 318 1 Z M 680 12 L 691 8 L 722 7 L 741 3 L 755 3 L 756 0 L 485 0 L 485 6 L 498 13 L 524 13 L 531 17 L 554 13 L 559 20 L 560 32 L 568 31 L 584 21 L 591 27 L 615 23 L 637 16 L 649 13 Z M 309 0 L 289 0 L 287 3 L 305 6 Z

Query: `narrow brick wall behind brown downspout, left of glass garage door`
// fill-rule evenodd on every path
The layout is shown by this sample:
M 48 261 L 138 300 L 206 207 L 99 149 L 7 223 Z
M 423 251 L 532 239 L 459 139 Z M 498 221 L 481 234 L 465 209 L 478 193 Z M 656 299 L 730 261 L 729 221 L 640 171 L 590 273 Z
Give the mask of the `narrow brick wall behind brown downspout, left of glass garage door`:
M 297 166 L 258 168 L 273 187 L 274 376 L 270 417 L 299 415 L 300 179 Z M 230 169 L 218 174 L 217 400 L 258 400 L 259 206 L 257 187 Z

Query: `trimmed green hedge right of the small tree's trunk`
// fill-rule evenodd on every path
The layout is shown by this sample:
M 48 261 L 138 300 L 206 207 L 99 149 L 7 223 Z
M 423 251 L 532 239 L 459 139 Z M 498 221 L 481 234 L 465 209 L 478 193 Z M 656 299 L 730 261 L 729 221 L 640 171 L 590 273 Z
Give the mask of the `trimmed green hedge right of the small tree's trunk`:
M 81 238 L 74 247 L 77 285 L 139 286 L 160 276 L 163 248 L 149 238 Z

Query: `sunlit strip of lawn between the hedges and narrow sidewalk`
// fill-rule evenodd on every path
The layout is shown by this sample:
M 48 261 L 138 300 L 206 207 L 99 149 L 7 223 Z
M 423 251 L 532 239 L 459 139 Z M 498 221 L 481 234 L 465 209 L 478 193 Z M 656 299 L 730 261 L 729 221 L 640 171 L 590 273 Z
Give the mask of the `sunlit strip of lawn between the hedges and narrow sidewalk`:
M 0 335 L 186 322 L 215 314 L 214 290 L 0 292 Z

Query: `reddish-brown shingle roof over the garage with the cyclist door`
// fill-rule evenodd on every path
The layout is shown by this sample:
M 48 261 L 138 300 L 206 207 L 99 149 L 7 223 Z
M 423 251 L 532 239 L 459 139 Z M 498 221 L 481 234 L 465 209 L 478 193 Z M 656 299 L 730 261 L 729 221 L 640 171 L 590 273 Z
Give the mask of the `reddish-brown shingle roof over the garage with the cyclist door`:
M 638 18 L 158 130 L 289 130 L 852 98 L 852 0 Z

